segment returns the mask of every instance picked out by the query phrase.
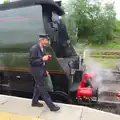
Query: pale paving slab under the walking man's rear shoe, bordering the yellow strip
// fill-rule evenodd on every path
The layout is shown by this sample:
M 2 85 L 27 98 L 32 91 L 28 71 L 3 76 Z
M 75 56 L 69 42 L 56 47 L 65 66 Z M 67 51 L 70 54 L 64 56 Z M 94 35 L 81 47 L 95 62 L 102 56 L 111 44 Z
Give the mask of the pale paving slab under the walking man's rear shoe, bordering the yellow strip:
M 0 96 L 0 99 L 6 96 Z M 0 111 L 6 111 L 14 114 L 29 115 L 39 117 L 46 107 L 31 107 L 31 100 L 17 97 L 9 97 L 4 105 L 0 105 Z

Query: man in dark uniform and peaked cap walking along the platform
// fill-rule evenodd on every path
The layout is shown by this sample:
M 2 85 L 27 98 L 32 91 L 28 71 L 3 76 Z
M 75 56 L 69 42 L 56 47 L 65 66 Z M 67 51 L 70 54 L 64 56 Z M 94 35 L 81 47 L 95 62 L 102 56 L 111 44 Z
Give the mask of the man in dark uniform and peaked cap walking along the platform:
M 39 43 L 33 45 L 30 49 L 29 63 L 35 80 L 32 106 L 43 106 L 43 104 L 38 102 L 39 96 L 41 96 L 51 111 L 58 111 L 60 107 L 57 107 L 53 104 L 51 97 L 49 96 L 44 85 L 44 77 L 46 73 L 45 64 L 49 59 L 49 56 L 45 55 L 43 46 L 48 44 L 48 35 L 39 35 Z

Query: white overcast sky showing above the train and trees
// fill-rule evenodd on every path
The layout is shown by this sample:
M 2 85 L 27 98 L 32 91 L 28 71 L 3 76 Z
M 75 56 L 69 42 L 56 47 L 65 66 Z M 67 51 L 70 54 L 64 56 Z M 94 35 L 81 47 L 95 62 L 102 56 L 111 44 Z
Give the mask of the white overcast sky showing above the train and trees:
M 16 0 L 10 0 L 10 1 L 16 1 Z M 59 0 L 54 0 L 59 1 Z M 69 0 L 62 0 L 64 3 L 68 2 Z M 103 0 L 102 0 L 103 1 Z M 104 0 L 104 1 L 111 1 L 111 0 Z M 120 20 L 120 0 L 114 0 L 115 1 L 115 11 L 117 13 L 116 17 Z M 4 0 L 0 0 L 0 4 L 2 4 Z

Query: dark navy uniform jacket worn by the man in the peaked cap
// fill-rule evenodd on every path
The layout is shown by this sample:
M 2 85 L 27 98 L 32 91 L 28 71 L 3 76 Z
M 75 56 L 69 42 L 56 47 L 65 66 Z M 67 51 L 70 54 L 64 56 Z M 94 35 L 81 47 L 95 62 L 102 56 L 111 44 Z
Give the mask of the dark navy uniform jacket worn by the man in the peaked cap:
M 42 57 L 45 55 L 45 52 L 42 52 L 40 45 L 35 44 L 31 47 L 29 52 L 29 64 L 31 67 L 31 72 L 35 75 L 39 74 L 43 76 L 46 72 L 44 61 Z

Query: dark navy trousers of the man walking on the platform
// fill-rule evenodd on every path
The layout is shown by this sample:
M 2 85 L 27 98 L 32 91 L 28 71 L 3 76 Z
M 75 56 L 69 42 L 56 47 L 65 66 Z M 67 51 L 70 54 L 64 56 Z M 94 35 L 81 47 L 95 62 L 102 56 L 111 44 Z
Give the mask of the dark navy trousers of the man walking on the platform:
M 44 102 L 47 104 L 49 108 L 52 108 L 54 104 L 52 103 L 51 97 L 47 92 L 47 89 L 44 85 L 44 75 L 33 74 L 35 80 L 34 92 L 32 102 L 36 103 L 41 96 Z

